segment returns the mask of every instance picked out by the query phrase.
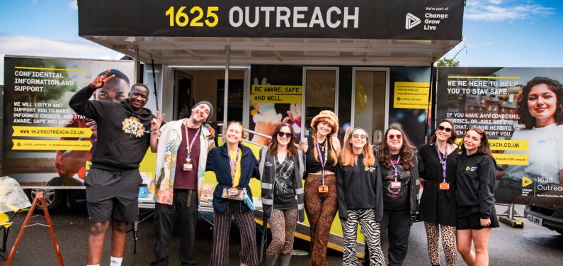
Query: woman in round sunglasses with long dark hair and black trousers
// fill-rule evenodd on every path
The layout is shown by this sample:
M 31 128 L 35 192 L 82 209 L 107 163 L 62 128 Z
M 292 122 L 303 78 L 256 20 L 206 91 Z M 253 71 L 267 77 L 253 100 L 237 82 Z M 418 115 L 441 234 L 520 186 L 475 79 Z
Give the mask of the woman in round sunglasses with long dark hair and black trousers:
M 381 227 L 389 240 L 388 265 L 402 265 L 409 245 L 412 216 L 419 208 L 419 166 L 414 147 L 402 128 L 390 126 L 384 136 L 377 155 L 383 184 Z

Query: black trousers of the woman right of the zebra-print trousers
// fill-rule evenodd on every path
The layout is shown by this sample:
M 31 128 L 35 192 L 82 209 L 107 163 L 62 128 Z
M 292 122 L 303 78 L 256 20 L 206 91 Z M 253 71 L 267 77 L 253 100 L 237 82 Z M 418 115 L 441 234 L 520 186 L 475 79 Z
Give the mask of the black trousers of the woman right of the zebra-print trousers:
M 409 209 L 383 211 L 381 226 L 381 243 L 387 245 L 387 265 L 402 265 L 409 248 L 412 218 Z M 387 240 L 387 241 L 385 241 Z M 382 247 L 385 250 L 384 247 Z M 385 251 L 384 251 L 385 252 Z M 370 265 L 368 245 L 365 245 L 363 265 Z

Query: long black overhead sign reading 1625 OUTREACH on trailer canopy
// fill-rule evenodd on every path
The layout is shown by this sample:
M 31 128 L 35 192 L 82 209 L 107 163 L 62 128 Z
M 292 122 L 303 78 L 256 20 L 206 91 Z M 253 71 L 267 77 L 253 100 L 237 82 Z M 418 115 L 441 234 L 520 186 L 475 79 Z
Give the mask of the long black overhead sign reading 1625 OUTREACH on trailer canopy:
M 461 40 L 463 0 L 82 0 L 81 36 Z

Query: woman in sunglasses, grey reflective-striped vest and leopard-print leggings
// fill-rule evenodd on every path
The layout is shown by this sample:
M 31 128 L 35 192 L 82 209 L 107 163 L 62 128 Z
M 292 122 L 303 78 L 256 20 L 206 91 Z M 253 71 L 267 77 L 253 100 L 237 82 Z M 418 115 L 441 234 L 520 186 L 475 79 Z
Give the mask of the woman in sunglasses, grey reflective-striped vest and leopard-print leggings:
M 266 148 L 260 150 L 258 169 L 262 187 L 264 218 L 270 222 L 272 241 L 263 265 L 290 265 L 297 220 L 305 221 L 302 176 L 305 164 L 295 146 L 295 133 L 289 123 L 275 127 Z M 263 243 L 266 245 L 266 243 Z

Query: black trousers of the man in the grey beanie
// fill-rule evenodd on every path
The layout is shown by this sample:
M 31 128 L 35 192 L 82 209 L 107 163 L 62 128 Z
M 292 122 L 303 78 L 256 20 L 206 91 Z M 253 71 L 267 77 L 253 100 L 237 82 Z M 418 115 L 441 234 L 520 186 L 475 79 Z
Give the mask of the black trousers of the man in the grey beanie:
M 170 238 L 174 223 L 178 219 L 178 231 L 181 242 L 178 253 L 182 265 L 196 265 L 195 226 L 198 223 L 198 191 L 174 189 L 173 204 L 155 204 L 154 228 L 157 243 L 154 246 L 154 262 L 151 265 L 168 265 Z

